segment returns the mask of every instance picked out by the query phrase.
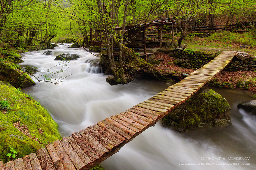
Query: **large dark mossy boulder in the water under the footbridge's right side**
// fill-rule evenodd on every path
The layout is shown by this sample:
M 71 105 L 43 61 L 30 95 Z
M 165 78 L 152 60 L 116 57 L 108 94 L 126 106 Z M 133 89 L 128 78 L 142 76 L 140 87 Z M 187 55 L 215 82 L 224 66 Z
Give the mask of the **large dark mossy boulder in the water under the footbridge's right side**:
M 229 125 L 230 114 L 226 99 L 211 89 L 202 88 L 166 115 L 162 123 L 184 132 L 200 127 Z

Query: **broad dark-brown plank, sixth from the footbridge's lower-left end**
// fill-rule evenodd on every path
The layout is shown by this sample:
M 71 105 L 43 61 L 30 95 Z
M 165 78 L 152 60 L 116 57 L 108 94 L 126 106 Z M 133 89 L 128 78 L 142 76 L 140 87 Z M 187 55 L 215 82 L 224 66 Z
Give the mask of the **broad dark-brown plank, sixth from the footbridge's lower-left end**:
M 36 152 L 39 163 L 42 169 L 55 170 L 54 163 L 50 157 L 48 151 L 45 148 L 41 148 Z

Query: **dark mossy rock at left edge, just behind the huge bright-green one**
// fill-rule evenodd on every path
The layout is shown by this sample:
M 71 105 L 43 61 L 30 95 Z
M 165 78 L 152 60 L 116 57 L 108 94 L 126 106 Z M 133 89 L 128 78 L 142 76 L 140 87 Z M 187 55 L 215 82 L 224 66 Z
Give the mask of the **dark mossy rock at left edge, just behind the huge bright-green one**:
M 0 63 L 0 79 L 11 83 L 14 87 L 25 88 L 36 84 L 30 76 L 22 73 L 19 66 L 11 63 Z

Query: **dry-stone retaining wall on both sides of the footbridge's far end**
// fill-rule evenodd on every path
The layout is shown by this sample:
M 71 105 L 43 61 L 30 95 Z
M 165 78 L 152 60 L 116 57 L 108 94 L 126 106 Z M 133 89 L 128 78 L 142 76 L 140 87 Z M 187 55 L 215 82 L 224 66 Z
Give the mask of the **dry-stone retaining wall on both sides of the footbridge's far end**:
M 174 48 L 171 57 L 176 58 L 173 64 L 178 65 L 181 68 L 198 69 L 203 67 L 209 61 L 214 59 L 220 51 L 216 53 L 195 52 L 185 48 Z M 244 71 L 244 70 L 256 70 L 256 58 L 248 57 L 248 53 L 237 52 L 230 64 L 224 69 L 224 71 Z

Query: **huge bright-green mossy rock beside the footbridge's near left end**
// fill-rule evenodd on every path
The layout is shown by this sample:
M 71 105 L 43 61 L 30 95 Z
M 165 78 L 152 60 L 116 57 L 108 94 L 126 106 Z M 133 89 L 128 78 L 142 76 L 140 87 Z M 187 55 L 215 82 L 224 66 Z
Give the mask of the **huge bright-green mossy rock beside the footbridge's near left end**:
M 0 160 L 4 163 L 8 160 L 7 154 L 11 148 L 18 152 L 19 158 L 36 152 L 48 142 L 61 139 L 58 124 L 32 97 L 2 81 L 0 81 L 0 96 L 1 100 L 11 103 L 11 109 L 0 112 Z M 26 125 L 33 139 L 21 133 L 13 125 L 16 122 Z

